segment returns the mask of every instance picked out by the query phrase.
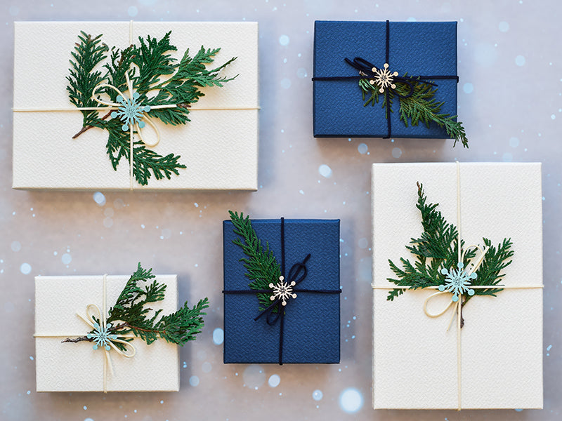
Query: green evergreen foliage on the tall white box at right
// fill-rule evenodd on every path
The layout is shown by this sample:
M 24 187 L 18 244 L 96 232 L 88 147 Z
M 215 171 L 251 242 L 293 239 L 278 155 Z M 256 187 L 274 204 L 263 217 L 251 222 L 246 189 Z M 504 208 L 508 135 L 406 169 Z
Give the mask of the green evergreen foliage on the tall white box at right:
M 429 286 L 440 286 L 443 284 L 444 276 L 440 270 L 457 267 L 458 260 L 458 231 L 455 225 L 447 222 L 440 211 L 437 210 L 438 203 L 427 203 L 423 186 L 418 184 L 418 200 L 416 207 L 421 213 L 421 226 L 424 232 L 419 238 L 410 240 L 407 250 L 415 257 L 412 263 L 410 260 L 400 258 L 401 267 L 392 260 L 388 260 L 396 279 L 388 278 L 388 281 L 405 289 L 393 289 L 388 293 L 387 300 L 402 295 L 406 289 L 427 288 Z M 504 239 L 497 247 L 492 246 L 489 239 L 483 239 L 485 246 L 490 249 L 485 254 L 485 258 L 480 267 L 476 270 L 478 277 L 471 280 L 472 285 L 495 286 L 502 280 L 504 274 L 500 274 L 502 269 L 511 263 L 514 251 L 511 249 L 511 239 Z M 461 241 L 461 251 L 464 248 L 464 241 Z M 464 255 L 464 267 L 476 256 L 476 251 L 467 250 Z M 492 295 L 495 297 L 502 288 L 487 288 L 474 290 L 476 295 Z M 470 295 L 462 296 L 462 305 L 466 305 L 471 298 Z

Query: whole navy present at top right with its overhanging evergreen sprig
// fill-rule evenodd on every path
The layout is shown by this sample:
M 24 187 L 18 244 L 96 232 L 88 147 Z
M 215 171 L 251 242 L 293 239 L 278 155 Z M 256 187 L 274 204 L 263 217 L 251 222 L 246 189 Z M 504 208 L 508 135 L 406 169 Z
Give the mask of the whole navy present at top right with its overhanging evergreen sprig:
M 315 22 L 316 138 L 454 138 L 467 146 L 457 81 L 457 22 Z

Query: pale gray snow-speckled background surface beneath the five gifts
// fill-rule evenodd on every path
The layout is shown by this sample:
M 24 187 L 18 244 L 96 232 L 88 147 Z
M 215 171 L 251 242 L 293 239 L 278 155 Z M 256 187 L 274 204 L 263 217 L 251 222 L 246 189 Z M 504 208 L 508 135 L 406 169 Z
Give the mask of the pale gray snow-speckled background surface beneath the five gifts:
M 557 0 L 2 0 L 0 419 L 560 419 L 561 11 Z M 13 21 L 130 19 L 259 22 L 258 192 L 11 189 Z M 450 140 L 315 140 L 310 78 L 313 22 L 320 19 L 458 20 L 459 117 L 470 149 L 452 149 Z M 37 140 L 45 141 L 40 127 Z M 544 410 L 371 409 L 370 165 L 454 159 L 543 163 Z M 223 365 L 217 343 L 228 209 L 253 218 L 341 218 L 339 365 Z M 34 276 L 130 274 L 138 261 L 178 274 L 181 299 L 208 296 L 212 303 L 204 332 L 181 350 L 181 392 L 34 392 Z

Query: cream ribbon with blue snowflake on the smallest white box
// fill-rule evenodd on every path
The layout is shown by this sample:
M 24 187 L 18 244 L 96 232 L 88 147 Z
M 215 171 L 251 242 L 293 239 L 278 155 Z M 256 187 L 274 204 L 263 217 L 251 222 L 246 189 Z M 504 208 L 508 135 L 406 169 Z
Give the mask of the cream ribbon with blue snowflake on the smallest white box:
M 132 333 L 124 335 L 115 335 L 110 333 L 111 323 L 107 323 L 107 274 L 103 275 L 103 298 L 102 298 L 102 309 L 95 304 L 86 305 L 86 316 L 77 312 L 76 315 L 79 316 L 86 324 L 88 324 L 93 333 L 87 333 L 86 337 L 92 339 L 95 342 L 93 349 L 98 349 L 102 347 L 105 358 L 103 359 L 103 393 L 107 393 L 107 370 L 113 375 L 113 366 L 111 363 L 110 349 L 114 349 L 117 354 L 124 356 L 126 358 L 132 358 L 136 354 L 135 347 L 131 342 L 122 340 L 119 338 L 136 338 L 136 335 Z M 95 310 L 95 313 L 91 313 L 91 309 Z M 98 319 L 99 322 L 96 321 Z M 82 335 L 52 335 L 49 333 L 35 333 L 34 338 L 78 338 Z M 125 351 L 119 349 L 115 343 L 122 344 L 125 347 Z

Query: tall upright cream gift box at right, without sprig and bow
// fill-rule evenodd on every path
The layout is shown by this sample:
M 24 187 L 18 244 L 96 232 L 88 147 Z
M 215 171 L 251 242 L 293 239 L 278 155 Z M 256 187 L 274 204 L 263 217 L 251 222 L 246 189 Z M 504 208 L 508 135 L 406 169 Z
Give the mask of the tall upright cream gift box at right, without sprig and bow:
M 373 165 L 375 409 L 542 408 L 540 163 L 460 163 L 458 181 L 460 224 L 457 164 Z M 405 246 L 423 231 L 417 182 L 428 203 L 438 203 L 443 217 L 460 225 L 465 244 L 483 237 L 494 245 L 513 242 L 511 265 L 499 282 L 506 289 L 496 297 L 476 295 L 463 307 L 459 338 L 456 319 L 447 331 L 453 309 L 436 318 L 424 314 L 435 290 L 386 299 L 396 287 L 387 280 L 396 279 L 388 260 L 414 262 Z M 447 297 L 432 305 L 446 306 Z

